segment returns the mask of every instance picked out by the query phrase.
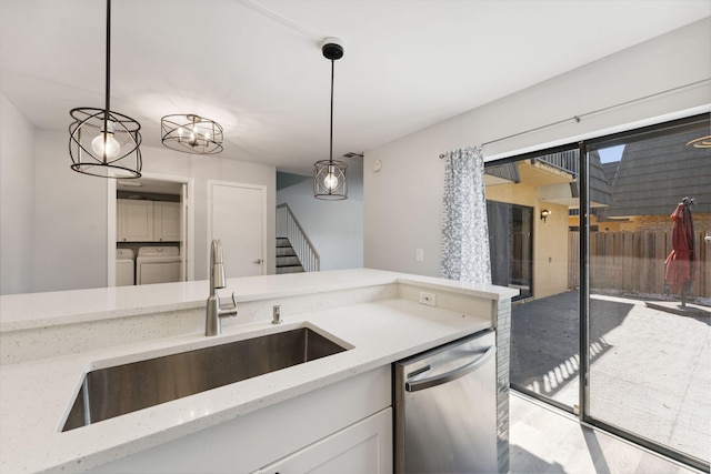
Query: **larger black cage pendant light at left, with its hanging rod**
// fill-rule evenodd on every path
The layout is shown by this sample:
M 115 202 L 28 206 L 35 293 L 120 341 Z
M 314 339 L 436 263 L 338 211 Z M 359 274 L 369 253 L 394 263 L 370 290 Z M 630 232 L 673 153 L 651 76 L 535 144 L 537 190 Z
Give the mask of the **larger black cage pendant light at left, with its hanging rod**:
M 111 78 L 111 0 L 107 0 L 106 107 L 82 107 L 69 113 L 71 169 L 101 178 L 141 177 L 141 125 L 110 108 Z

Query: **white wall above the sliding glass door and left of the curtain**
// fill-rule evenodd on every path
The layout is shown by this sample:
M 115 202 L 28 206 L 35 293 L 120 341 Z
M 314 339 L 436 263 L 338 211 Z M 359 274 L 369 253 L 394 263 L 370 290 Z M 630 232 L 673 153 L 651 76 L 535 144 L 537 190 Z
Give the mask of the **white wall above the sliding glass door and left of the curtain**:
M 364 265 L 439 275 L 444 163 L 450 150 L 711 78 L 704 19 L 365 152 Z M 487 71 L 482 71 L 487 73 Z M 495 71 L 489 73 L 495 74 Z M 475 85 L 472 85 L 475 87 Z M 641 127 L 711 109 L 711 84 L 583 117 L 484 148 L 487 160 Z M 372 171 L 375 160 L 382 170 Z M 415 261 L 423 249 L 424 261 Z

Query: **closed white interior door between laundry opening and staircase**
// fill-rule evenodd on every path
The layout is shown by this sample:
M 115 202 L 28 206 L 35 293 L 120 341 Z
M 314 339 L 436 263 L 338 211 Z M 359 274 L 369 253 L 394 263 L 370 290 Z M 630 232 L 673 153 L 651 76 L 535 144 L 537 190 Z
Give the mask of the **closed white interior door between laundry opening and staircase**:
M 266 273 L 267 189 L 210 183 L 210 241 L 220 239 L 228 278 Z

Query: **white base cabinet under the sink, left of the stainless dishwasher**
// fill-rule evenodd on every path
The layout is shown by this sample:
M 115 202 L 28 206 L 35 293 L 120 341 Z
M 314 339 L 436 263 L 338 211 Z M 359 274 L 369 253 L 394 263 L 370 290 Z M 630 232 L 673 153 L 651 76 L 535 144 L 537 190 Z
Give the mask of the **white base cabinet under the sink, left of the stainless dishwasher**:
M 91 472 L 389 473 L 391 385 L 390 365 L 374 369 Z

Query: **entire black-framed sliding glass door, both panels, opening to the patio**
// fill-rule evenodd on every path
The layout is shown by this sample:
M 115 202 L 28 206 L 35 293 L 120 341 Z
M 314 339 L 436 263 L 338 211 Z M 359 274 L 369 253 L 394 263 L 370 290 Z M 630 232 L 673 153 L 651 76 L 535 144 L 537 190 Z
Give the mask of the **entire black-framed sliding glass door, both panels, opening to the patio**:
M 709 132 L 698 115 L 485 171 L 492 278 L 521 291 L 511 386 L 705 471 Z

